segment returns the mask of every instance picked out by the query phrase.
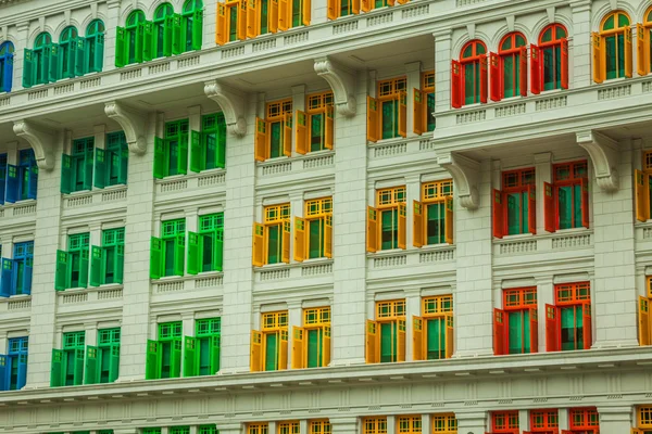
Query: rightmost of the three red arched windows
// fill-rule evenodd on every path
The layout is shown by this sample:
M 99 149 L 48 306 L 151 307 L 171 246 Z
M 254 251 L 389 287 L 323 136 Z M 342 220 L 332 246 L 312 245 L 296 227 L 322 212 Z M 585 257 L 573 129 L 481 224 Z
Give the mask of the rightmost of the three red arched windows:
M 568 41 L 566 28 L 550 24 L 539 35 L 539 46 L 531 46 L 531 91 L 568 89 Z

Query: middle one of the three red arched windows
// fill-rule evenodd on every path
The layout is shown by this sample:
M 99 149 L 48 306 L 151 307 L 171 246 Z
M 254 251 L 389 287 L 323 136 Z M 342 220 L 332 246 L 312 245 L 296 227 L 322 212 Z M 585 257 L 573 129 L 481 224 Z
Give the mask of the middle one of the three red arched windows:
M 514 31 L 500 42 L 498 49 L 499 69 L 490 59 L 491 100 L 527 95 L 527 47 L 525 36 Z M 498 71 L 497 71 L 498 69 Z M 498 73 L 498 74 L 497 74 Z

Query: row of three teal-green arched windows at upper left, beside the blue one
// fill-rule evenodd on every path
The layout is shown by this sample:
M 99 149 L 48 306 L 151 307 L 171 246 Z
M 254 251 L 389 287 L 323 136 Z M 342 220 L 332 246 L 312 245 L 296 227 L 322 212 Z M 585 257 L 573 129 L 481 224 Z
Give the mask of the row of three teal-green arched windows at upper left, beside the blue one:
M 99 73 L 103 59 L 104 23 L 101 20 L 86 27 L 86 36 L 79 36 L 74 26 L 64 28 L 59 43 L 52 42 L 50 34 L 43 31 L 36 37 L 32 50 L 25 49 L 23 87 Z

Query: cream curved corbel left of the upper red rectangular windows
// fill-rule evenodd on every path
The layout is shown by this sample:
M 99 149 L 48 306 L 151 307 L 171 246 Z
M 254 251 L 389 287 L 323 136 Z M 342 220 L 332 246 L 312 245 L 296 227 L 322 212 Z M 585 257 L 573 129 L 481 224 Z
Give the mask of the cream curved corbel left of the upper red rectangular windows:
M 453 177 L 460 205 L 467 209 L 477 209 L 480 206 L 478 193 L 480 163 L 451 152 L 437 155 L 437 163 Z

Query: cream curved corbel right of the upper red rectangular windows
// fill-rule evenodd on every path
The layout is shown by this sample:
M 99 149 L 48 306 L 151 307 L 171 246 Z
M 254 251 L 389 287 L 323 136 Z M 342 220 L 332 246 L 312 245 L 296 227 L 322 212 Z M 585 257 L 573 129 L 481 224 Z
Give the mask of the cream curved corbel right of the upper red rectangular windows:
M 598 187 L 606 192 L 618 190 L 618 143 L 593 130 L 577 132 L 576 138 L 593 162 Z

